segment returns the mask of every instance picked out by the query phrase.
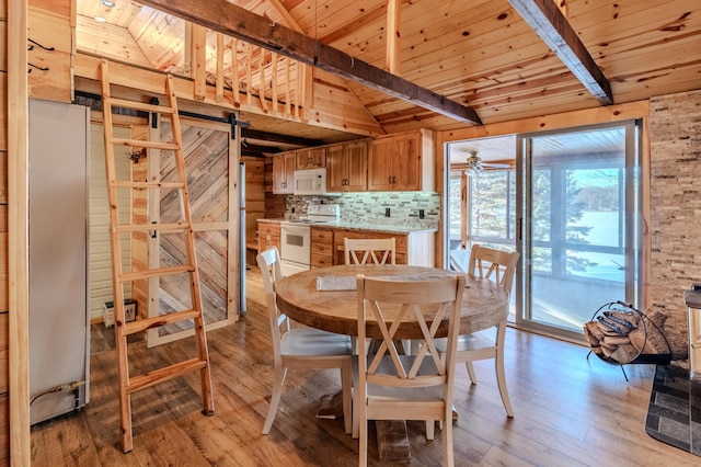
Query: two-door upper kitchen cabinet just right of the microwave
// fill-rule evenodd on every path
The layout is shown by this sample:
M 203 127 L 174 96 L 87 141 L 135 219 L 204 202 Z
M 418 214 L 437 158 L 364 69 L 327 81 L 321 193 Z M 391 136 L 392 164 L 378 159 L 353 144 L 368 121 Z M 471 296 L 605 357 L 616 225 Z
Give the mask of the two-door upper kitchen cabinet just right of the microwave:
M 350 141 L 326 148 L 326 190 L 364 192 L 368 187 L 368 141 Z

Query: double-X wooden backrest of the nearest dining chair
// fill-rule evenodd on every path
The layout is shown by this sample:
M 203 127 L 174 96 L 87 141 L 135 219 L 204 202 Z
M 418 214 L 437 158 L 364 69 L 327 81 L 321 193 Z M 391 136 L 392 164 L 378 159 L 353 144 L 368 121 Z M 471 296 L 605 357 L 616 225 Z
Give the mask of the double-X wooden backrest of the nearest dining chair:
M 358 294 L 358 342 L 365 342 L 369 326 L 378 327 L 382 340 L 375 356 L 368 362 L 365 345 L 358 345 L 360 362 L 360 384 L 394 387 L 425 387 L 447 384 L 445 390 L 452 387 L 452 368 L 458 333 L 460 329 L 460 307 L 464 277 L 444 277 L 424 281 L 394 281 L 388 278 L 357 278 Z M 415 319 L 422 329 L 424 340 L 415 357 L 401 357 L 395 346 L 395 335 L 401 322 L 406 318 Z M 368 318 L 372 318 L 368 320 Z M 448 318 L 448 351 L 446 360 L 440 360 L 436 350 L 435 337 Z M 393 365 L 389 365 L 387 355 Z M 430 364 L 433 360 L 433 365 Z M 428 365 L 426 365 L 428 361 Z M 363 362 L 366 367 L 363 368 Z M 426 368 L 432 369 L 426 373 Z M 421 375 L 418 369 L 422 369 Z M 365 372 L 363 371 L 365 369 Z M 450 392 L 447 392 L 447 397 Z

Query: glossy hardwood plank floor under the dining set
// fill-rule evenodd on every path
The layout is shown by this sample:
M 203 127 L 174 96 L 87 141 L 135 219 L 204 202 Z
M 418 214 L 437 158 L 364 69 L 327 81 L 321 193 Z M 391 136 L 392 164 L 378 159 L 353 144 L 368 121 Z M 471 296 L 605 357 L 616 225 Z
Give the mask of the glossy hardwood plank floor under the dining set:
M 200 413 L 196 374 L 131 397 L 134 451 L 119 446 L 113 329 L 93 327 L 90 403 L 32 430 L 34 466 L 354 466 L 358 442 L 342 420 L 317 419 L 322 396 L 338 390 L 337 374 L 289 372 L 267 436 L 261 434 L 273 379 L 269 331 L 260 273 L 249 271 L 249 310 L 235 324 L 208 333 L 216 413 Z M 701 458 L 650 437 L 644 430 L 654 367 L 619 367 L 587 349 L 508 329 L 506 378 L 516 417 L 499 399 L 492 361 L 475 362 L 479 384 L 458 372 L 455 455 L 458 466 L 699 465 Z M 134 374 L 184 360 L 193 341 L 147 350 L 130 344 Z M 426 441 L 409 422 L 411 465 L 441 465 L 440 431 Z M 370 463 L 377 444 L 370 432 Z

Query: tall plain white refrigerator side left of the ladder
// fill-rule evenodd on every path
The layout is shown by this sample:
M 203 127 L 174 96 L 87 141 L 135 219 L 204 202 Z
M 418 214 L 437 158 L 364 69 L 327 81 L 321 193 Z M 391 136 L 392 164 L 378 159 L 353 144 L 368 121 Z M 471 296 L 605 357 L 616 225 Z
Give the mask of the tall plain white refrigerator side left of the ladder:
M 89 401 L 90 110 L 30 100 L 30 419 Z

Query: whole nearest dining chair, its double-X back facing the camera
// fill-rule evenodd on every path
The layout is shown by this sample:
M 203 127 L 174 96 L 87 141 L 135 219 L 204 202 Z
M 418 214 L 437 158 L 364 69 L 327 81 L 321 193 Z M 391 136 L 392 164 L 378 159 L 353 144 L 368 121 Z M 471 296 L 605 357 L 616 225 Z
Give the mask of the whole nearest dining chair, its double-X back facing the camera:
M 368 420 L 424 420 L 432 426 L 443 423 L 444 465 L 453 465 L 452 386 L 455 353 L 460 328 L 460 306 L 464 277 L 423 281 L 357 278 L 358 339 L 368 328 L 379 328 L 381 344 L 374 355 L 358 346 L 354 361 L 354 433 L 359 430 L 359 465 L 367 465 Z M 414 355 L 400 355 L 395 345 L 404 317 L 420 324 L 424 340 Z M 448 320 L 446 354 L 441 358 L 435 335 Z M 450 422 L 448 422 L 450 421 Z

